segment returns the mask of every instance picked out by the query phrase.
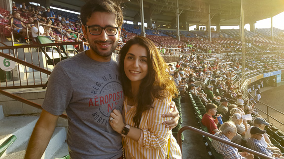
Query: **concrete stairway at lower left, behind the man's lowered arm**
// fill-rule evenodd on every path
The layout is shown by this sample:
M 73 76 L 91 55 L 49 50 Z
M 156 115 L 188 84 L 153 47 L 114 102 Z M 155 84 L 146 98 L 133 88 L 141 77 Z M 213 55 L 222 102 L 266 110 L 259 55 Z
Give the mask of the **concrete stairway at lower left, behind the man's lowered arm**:
M 41 88 L 9 90 L 22 98 L 41 105 L 45 90 Z M 6 150 L 1 159 L 23 159 L 30 136 L 41 110 L 0 95 L 0 143 L 12 134 L 17 140 Z M 62 158 L 68 154 L 66 142 L 67 120 L 59 118 L 57 127 L 41 159 Z

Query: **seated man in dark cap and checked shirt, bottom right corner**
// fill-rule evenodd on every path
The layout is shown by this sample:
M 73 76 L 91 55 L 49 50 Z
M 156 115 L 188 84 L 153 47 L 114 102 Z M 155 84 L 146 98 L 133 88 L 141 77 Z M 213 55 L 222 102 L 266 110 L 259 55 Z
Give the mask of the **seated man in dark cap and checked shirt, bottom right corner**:
M 266 131 L 260 130 L 258 127 L 252 127 L 250 129 L 251 137 L 248 139 L 249 147 L 261 154 L 267 155 L 269 157 L 274 157 L 275 159 L 284 159 L 284 157 L 280 156 L 277 153 L 273 153 L 272 151 L 265 148 L 265 146 L 261 143 L 262 134 Z

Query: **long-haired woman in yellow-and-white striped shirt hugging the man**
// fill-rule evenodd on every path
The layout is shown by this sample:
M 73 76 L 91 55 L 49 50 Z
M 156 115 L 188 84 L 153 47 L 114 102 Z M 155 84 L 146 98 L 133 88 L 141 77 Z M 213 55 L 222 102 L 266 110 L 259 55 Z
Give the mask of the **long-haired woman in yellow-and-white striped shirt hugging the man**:
M 109 123 L 124 136 L 126 158 L 165 159 L 170 146 L 169 157 L 181 159 L 177 141 L 171 130 L 163 126 L 165 119 L 161 117 L 170 112 L 169 96 L 177 94 L 177 89 L 155 45 L 136 36 L 121 49 L 119 62 L 125 95 L 124 121 L 120 112 L 113 110 Z

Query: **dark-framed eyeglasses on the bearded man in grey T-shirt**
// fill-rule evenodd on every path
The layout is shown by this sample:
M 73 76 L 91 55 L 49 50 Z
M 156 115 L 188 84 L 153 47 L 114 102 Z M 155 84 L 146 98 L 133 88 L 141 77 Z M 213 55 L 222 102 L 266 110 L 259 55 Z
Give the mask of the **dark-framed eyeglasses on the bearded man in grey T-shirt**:
M 92 35 L 101 35 L 102 31 L 106 31 L 106 35 L 113 36 L 117 34 L 119 27 L 100 27 L 100 26 L 86 26 L 89 28 L 89 32 Z

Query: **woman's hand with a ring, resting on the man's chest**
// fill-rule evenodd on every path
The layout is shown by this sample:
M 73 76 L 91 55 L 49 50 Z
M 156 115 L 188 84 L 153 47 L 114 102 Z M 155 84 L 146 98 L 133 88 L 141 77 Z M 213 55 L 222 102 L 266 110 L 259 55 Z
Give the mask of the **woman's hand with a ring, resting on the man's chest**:
M 125 127 L 125 124 L 123 123 L 122 115 L 118 110 L 116 110 L 116 109 L 112 110 L 112 112 L 110 113 L 108 121 L 109 121 L 111 128 L 115 132 L 118 132 L 118 133 L 121 134 L 123 128 Z

